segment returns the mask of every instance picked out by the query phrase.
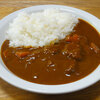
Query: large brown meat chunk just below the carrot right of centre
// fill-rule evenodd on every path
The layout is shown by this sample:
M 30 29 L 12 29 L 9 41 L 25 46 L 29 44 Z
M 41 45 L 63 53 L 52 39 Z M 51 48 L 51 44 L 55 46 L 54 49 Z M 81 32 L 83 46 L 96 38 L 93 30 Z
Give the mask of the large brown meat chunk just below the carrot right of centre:
M 76 43 L 66 44 L 62 54 L 74 59 L 81 59 L 80 45 Z

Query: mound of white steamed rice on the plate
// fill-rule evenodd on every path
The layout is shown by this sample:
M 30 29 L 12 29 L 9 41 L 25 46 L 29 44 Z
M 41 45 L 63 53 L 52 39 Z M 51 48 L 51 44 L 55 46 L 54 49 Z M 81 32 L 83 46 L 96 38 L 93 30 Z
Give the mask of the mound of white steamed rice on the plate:
M 59 9 L 31 14 L 21 12 L 9 24 L 7 39 L 11 47 L 42 47 L 65 38 L 77 23 L 75 15 Z

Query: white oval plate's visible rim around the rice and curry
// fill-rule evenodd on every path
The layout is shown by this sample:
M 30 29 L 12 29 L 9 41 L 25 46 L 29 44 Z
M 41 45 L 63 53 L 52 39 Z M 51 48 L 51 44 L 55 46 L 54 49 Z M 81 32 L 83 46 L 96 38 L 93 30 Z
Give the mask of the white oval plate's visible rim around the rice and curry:
M 68 7 L 68 6 L 62 6 L 62 5 L 39 5 L 39 6 L 32 6 L 29 8 L 16 11 L 6 16 L 0 21 L 0 46 L 5 40 L 5 33 L 8 28 L 8 24 L 12 21 L 12 19 L 14 19 L 17 16 L 19 12 L 26 11 L 28 13 L 31 13 L 31 12 L 42 11 L 43 9 L 46 9 L 46 8 L 60 8 L 62 11 L 71 12 L 77 15 L 79 18 L 84 19 L 87 22 L 89 22 L 92 26 L 96 28 L 98 32 L 100 32 L 99 19 L 85 11 Z M 21 89 L 28 90 L 31 92 L 38 92 L 38 93 L 45 93 L 45 94 L 69 93 L 69 92 L 86 88 L 94 84 L 95 82 L 97 82 L 100 79 L 100 66 L 98 66 L 96 70 L 94 70 L 94 72 L 89 74 L 87 77 L 81 80 L 75 81 L 73 83 L 63 84 L 63 85 L 40 85 L 40 84 L 25 81 L 15 76 L 14 74 L 12 74 L 6 68 L 6 66 L 2 62 L 2 59 L 0 58 L 0 77 L 16 87 L 19 87 Z

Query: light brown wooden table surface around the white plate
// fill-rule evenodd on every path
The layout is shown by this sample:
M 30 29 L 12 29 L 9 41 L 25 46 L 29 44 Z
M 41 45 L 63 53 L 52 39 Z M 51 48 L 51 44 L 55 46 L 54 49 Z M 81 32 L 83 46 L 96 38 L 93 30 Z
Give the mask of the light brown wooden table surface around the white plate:
M 18 9 L 38 4 L 62 4 L 85 10 L 100 18 L 100 0 L 0 0 L 0 19 Z M 84 90 L 43 95 L 18 89 L 0 79 L 0 100 L 100 100 L 100 81 Z

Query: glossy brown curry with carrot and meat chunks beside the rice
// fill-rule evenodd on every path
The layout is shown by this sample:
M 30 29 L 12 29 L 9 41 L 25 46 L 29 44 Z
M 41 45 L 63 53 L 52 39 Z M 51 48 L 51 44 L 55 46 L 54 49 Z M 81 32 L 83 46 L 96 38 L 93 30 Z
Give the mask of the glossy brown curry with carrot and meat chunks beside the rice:
M 2 45 L 2 59 L 18 77 L 38 84 L 66 84 L 93 72 L 100 63 L 100 36 L 79 19 L 74 31 L 63 40 L 39 48 Z

